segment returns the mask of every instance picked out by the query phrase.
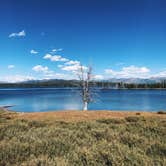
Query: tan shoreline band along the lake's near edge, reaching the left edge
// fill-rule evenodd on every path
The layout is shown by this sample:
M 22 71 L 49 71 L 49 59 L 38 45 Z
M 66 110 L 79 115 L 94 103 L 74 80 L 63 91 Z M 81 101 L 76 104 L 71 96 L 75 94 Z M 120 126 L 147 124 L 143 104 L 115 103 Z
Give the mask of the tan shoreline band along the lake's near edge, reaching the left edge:
M 166 118 L 166 111 L 121 111 L 121 110 L 56 110 L 47 112 L 16 112 L 7 108 L 0 108 L 3 114 L 14 119 L 39 121 L 92 121 L 98 119 L 125 119 L 127 117 Z

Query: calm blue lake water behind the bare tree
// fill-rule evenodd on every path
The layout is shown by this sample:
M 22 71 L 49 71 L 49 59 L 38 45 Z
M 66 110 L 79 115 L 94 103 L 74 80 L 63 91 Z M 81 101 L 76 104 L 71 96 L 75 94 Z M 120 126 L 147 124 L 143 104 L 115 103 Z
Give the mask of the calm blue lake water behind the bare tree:
M 166 110 L 166 90 L 98 90 L 90 110 Z M 0 89 L 0 106 L 15 105 L 18 112 L 78 110 L 82 108 L 76 89 Z

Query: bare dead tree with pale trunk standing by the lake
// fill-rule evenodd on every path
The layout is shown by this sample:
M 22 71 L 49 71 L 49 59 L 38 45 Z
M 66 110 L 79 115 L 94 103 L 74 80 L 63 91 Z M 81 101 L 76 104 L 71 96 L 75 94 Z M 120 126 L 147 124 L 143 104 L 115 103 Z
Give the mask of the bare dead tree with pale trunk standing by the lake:
M 83 110 L 87 111 L 88 104 L 92 101 L 92 92 L 90 87 L 90 82 L 92 80 L 92 68 L 85 68 L 81 65 L 80 71 L 78 72 L 78 78 L 80 82 Z

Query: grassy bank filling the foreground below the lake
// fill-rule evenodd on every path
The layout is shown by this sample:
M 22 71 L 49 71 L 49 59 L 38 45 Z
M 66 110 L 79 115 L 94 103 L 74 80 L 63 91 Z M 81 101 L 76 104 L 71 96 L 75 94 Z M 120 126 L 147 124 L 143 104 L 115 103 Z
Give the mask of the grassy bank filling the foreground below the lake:
M 107 113 L 87 121 L 59 114 L 65 115 L 0 111 L 0 165 L 166 165 L 165 114 Z M 78 114 L 92 116 L 74 119 Z

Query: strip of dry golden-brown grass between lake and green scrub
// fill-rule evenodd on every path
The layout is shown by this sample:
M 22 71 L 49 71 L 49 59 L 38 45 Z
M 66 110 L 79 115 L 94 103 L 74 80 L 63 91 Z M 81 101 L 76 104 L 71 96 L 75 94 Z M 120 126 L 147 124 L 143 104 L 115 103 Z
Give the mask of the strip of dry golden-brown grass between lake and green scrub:
M 129 112 L 129 111 L 54 111 L 54 112 L 35 112 L 35 113 L 18 113 L 16 118 L 31 120 L 58 120 L 58 121 L 88 121 L 96 119 L 125 118 L 129 116 L 143 117 L 161 117 L 166 115 L 157 114 L 156 112 Z

